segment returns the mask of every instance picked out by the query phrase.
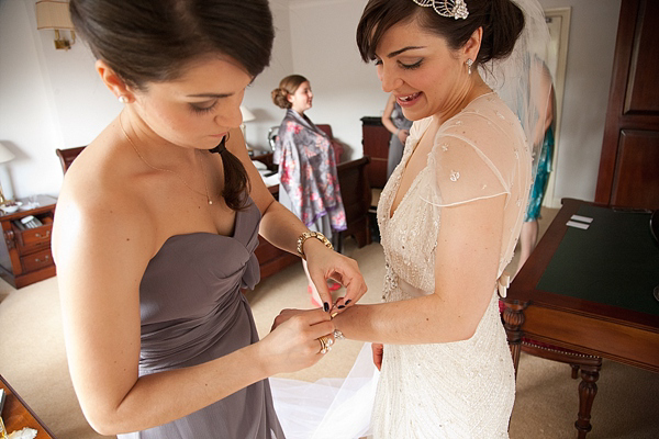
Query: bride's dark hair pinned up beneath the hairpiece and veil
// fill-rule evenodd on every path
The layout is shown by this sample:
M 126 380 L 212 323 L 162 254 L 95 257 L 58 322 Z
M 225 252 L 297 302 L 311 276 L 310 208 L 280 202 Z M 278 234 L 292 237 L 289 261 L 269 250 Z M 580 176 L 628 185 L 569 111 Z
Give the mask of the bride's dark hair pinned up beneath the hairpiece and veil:
M 422 29 L 446 40 L 451 49 L 469 41 L 482 27 L 483 36 L 474 66 L 509 56 L 524 29 L 524 13 L 511 0 L 466 0 L 469 16 L 465 20 L 439 15 L 433 8 L 422 8 L 412 0 L 370 0 L 357 26 L 357 46 L 366 63 L 376 59 L 382 35 L 394 24 L 417 20 Z

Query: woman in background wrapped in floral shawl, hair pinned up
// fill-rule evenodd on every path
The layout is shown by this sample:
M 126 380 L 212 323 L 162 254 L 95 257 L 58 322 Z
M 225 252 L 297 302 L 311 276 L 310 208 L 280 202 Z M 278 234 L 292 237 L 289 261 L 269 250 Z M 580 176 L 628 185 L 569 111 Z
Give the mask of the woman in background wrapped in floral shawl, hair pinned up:
M 311 85 L 301 75 L 290 75 L 272 90 L 272 102 L 286 115 L 275 145 L 273 162 L 279 165 L 279 202 L 298 216 L 310 230 L 320 232 L 336 243 L 346 229 L 346 213 L 336 173 L 336 155 L 327 134 L 304 112 L 312 106 Z M 315 284 L 309 279 L 309 294 L 321 306 Z M 340 283 L 331 282 L 331 291 Z

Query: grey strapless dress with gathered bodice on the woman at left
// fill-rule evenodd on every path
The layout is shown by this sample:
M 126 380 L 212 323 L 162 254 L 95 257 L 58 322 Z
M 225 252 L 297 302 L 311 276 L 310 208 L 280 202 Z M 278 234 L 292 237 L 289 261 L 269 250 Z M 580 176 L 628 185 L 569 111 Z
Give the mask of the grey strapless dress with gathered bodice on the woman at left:
M 260 212 L 252 203 L 236 215 L 233 236 L 192 233 L 167 239 L 139 284 L 139 375 L 200 364 L 258 341 L 241 289 L 260 272 Z M 171 398 L 176 399 L 176 395 Z M 268 380 L 183 418 L 120 439 L 282 439 Z

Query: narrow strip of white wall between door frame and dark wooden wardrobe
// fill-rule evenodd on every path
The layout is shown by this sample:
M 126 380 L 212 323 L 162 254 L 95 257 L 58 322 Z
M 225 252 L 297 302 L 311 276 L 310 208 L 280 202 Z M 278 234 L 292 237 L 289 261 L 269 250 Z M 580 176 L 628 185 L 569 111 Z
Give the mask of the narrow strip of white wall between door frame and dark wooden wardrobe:
M 539 0 L 571 7 L 555 199 L 593 201 L 604 138 L 621 0 Z

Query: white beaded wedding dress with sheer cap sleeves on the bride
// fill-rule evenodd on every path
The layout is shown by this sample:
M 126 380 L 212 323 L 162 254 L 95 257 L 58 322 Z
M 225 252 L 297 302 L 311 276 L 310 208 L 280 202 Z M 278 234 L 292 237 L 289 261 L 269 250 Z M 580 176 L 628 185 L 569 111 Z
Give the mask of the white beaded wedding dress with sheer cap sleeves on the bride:
M 522 227 L 530 153 L 518 119 L 495 93 L 474 99 L 440 126 L 426 167 L 391 216 L 403 170 L 429 122 L 414 123 L 378 206 L 386 302 L 434 292 L 443 209 L 505 194 L 499 277 L 513 257 Z M 515 382 L 496 281 L 492 279 L 492 300 L 470 339 L 384 346 L 375 438 L 507 438 Z

